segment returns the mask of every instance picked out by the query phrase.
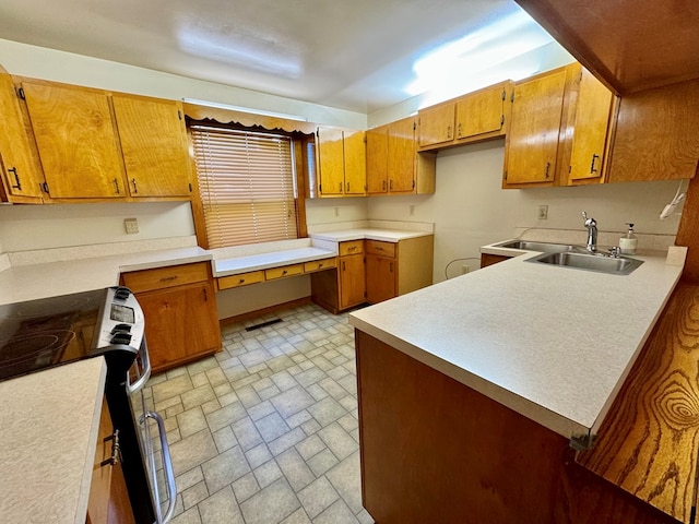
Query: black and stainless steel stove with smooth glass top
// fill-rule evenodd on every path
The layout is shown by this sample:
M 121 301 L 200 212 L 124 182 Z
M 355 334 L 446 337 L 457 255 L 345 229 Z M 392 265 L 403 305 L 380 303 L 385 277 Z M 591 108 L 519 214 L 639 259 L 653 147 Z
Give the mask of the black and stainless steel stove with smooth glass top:
M 0 380 L 104 356 L 105 397 L 135 522 L 161 524 L 171 519 L 176 486 L 163 419 L 147 409 L 143 396 L 151 376 L 144 330 L 143 311 L 126 287 L 0 306 Z M 156 436 L 169 499 L 164 514 L 153 448 Z

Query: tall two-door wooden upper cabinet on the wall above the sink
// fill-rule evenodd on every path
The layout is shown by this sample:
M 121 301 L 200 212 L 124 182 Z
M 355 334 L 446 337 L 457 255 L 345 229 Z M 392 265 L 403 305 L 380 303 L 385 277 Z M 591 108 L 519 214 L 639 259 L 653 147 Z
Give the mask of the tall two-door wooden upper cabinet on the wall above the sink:
M 605 181 L 615 97 L 579 63 L 518 83 L 505 143 L 505 188 Z

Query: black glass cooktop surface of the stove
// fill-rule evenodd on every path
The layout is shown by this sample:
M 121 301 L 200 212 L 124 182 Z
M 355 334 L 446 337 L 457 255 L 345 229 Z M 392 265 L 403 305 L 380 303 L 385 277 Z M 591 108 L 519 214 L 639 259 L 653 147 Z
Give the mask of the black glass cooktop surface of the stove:
M 107 289 L 0 306 L 0 380 L 90 356 Z

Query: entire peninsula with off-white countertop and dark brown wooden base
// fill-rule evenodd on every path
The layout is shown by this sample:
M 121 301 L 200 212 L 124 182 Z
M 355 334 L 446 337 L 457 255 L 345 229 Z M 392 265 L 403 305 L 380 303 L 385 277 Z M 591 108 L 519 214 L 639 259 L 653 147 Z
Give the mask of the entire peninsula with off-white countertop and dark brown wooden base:
M 353 312 L 376 521 L 684 521 L 694 501 L 649 503 L 573 450 L 594 442 L 678 282 L 682 266 L 649 254 L 620 276 L 530 252 Z

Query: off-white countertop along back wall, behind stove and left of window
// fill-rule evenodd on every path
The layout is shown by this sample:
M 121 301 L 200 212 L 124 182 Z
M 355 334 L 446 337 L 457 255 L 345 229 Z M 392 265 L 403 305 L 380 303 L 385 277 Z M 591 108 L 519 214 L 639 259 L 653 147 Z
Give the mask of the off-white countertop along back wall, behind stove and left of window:
M 0 272 L 0 305 L 116 286 L 120 273 L 211 259 L 191 247 L 12 266 Z

